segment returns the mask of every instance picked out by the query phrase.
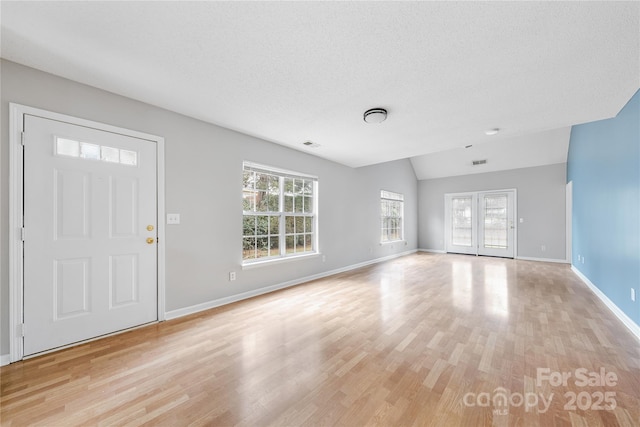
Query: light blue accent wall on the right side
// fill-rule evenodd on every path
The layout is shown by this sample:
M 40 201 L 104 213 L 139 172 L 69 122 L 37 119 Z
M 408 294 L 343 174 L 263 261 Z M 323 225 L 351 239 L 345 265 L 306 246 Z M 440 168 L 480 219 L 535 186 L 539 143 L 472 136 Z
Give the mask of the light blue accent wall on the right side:
M 616 117 L 573 126 L 567 179 L 572 264 L 640 325 L 640 90 Z

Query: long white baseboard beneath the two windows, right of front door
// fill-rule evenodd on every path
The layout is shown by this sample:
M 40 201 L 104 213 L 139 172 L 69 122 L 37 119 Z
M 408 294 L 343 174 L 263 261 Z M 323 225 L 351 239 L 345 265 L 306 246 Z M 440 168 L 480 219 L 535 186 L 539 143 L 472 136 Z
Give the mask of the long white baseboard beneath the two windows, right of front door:
M 412 253 L 417 252 L 417 250 L 410 250 L 406 252 L 401 252 L 398 254 L 388 255 L 382 258 L 376 258 L 364 262 L 360 262 L 358 264 L 352 264 L 346 267 L 338 268 L 335 270 L 329 270 L 318 274 L 313 274 L 311 276 L 301 277 L 294 280 L 289 280 L 287 282 L 278 283 L 276 285 L 266 286 L 264 288 L 255 289 L 253 291 L 243 292 L 236 295 L 231 295 L 224 298 L 218 298 L 212 301 L 203 302 L 201 304 L 192 305 L 189 307 L 179 308 L 177 310 L 167 311 L 165 313 L 165 320 L 176 319 L 178 317 L 188 316 L 190 314 L 198 313 L 200 311 L 209 310 L 211 308 L 220 307 L 226 304 L 231 304 L 234 302 L 242 301 L 248 298 L 257 297 L 258 295 L 264 295 L 269 292 L 274 292 L 280 289 L 290 288 L 291 286 L 300 285 L 302 283 L 310 282 L 312 280 L 321 279 L 323 277 L 332 276 L 338 273 L 344 273 L 346 271 L 355 270 L 356 268 L 366 267 L 367 265 L 377 264 L 379 262 L 388 261 L 394 258 L 399 258 L 405 255 L 410 255 Z

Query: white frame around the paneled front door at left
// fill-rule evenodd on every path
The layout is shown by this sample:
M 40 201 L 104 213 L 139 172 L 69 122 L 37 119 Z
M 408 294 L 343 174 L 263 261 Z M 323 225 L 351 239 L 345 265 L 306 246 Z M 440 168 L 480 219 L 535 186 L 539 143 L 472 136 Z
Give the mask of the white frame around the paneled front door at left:
M 22 360 L 24 318 L 23 264 L 23 194 L 24 152 L 22 135 L 25 114 L 118 133 L 156 143 L 157 147 L 157 215 L 158 215 L 158 321 L 165 320 L 165 226 L 164 226 L 164 138 L 91 120 L 54 113 L 39 108 L 9 103 L 9 357 L 10 363 Z

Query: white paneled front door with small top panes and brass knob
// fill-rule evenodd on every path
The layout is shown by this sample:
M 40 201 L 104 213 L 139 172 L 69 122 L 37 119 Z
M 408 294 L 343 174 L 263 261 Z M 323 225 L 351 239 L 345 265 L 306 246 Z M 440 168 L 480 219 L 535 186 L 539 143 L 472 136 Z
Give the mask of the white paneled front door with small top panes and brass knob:
M 24 116 L 24 355 L 158 319 L 156 144 Z

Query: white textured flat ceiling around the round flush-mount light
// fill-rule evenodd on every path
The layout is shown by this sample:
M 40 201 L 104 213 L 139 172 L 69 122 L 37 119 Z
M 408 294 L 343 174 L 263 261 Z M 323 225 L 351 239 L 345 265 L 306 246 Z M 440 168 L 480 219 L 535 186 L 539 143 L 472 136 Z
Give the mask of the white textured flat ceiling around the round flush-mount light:
M 458 174 L 461 147 L 536 144 L 640 87 L 638 2 L 0 8 L 3 58 L 353 167 L 411 158 L 420 179 L 439 174 L 425 155 Z M 387 121 L 364 123 L 372 107 Z

